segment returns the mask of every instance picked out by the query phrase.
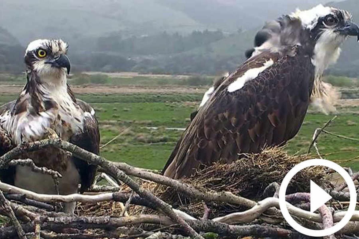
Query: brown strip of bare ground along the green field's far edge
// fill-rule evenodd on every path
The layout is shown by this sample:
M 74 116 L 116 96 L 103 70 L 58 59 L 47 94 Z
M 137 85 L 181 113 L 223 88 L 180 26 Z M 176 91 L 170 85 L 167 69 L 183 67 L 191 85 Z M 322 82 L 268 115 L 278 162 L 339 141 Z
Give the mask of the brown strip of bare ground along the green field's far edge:
M 22 90 L 22 85 L 1 85 L 0 94 L 18 94 Z M 75 94 L 133 94 L 133 93 L 187 93 L 203 94 L 206 92 L 205 87 L 177 87 L 177 86 L 161 86 L 161 87 L 143 87 L 143 86 L 71 86 Z

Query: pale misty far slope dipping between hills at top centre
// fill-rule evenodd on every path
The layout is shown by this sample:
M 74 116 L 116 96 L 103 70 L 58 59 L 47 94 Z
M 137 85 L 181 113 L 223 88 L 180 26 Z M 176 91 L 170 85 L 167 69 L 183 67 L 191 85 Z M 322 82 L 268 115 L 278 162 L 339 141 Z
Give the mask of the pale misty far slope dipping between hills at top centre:
M 209 28 L 225 31 L 251 29 L 265 21 L 288 14 L 296 8 L 307 9 L 322 0 L 159 0 Z

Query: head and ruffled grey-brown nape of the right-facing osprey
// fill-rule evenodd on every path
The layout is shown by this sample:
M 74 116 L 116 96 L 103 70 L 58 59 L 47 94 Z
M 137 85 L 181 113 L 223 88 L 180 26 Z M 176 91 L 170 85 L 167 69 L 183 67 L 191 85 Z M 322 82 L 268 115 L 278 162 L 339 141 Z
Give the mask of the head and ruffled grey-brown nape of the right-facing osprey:
M 266 50 L 290 54 L 288 49 L 302 46 L 311 55 L 317 73 L 321 74 L 329 64 L 336 62 L 339 47 L 349 36 L 359 40 L 359 28 L 352 22 L 351 14 L 318 5 L 267 22 L 256 34 L 255 48 L 248 50 L 246 57 Z

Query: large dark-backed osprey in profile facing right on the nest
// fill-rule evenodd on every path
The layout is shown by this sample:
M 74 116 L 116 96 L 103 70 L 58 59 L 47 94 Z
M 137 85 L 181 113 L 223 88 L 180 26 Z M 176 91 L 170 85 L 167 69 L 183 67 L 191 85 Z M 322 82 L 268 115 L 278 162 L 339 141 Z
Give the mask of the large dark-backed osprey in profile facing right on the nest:
M 260 152 L 293 138 L 312 92 L 326 90 L 323 72 L 336 62 L 349 36 L 359 40 L 351 14 L 323 5 L 266 23 L 256 47 L 246 52 L 249 59 L 205 93 L 164 175 L 190 176 L 201 165 L 230 163 L 239 153 Z

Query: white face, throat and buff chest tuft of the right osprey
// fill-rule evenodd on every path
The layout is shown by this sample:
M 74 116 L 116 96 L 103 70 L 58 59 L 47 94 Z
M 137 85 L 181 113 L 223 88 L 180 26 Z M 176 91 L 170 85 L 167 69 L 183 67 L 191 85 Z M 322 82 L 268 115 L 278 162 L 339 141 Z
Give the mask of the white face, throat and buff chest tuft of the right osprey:
M 312 48 L 312 63 L 315 66 L 312 103 L 325 113 L 335 111 L 335 102 L 340 94 L 332 85 L 321 80 L 326 68 L 337 61 L 340 45 L 350 36 L 359 40 L 359 27 L 352 22 L 348 11 L 318 5 L 307 11 L 297 10 L 291 17 L 302 22 L 309 32 Z

